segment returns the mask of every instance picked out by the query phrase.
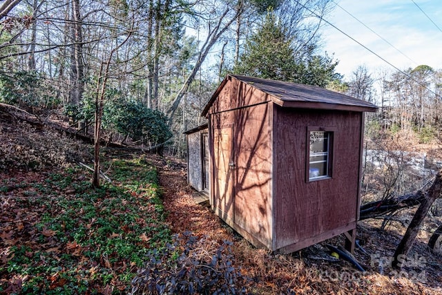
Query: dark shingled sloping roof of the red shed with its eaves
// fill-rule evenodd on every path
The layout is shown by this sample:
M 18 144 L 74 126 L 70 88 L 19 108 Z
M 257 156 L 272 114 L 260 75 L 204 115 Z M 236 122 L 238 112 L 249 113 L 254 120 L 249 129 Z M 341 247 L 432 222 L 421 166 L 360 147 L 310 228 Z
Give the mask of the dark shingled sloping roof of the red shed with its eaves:
M 213 93 L 211 99 L 204 108 L 202 115 L 206 115 L 209 112 L 209 108 L 215 101 L 216 97 L 218 97 L 218 93 L 220 93 L 224 85 L 231 77 L 271 95 L 272 102 L 278 104 L 279 106 L 289 108 L 319 108 L 368 112 L 374 112 L 377 109 L 377 106 L 371 102 L 365 102 L 364 100 L 342 93 L 329 91 L 318 86 L 240 75 L 227 75 L 215 93 Z

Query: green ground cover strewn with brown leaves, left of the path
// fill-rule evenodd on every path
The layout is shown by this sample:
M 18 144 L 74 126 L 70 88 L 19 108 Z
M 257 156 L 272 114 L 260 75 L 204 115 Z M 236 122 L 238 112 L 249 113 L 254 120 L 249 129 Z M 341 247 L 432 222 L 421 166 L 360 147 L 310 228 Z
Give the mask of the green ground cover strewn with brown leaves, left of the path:
M 0 294 L 125 293 L 170 239 L 155 167 L 111 160 L 113 184 L 79 166 L 0 173 Z

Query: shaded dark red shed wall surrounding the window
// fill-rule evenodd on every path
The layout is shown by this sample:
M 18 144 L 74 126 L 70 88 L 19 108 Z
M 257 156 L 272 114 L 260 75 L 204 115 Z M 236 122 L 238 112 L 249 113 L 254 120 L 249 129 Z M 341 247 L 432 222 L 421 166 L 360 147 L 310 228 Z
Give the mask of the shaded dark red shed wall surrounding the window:
M 276 110 L 273 205 L 279 249 L 356 221 L 362 113 Z M 307 126 L 335 130 L 331 179 L 306 181 Z

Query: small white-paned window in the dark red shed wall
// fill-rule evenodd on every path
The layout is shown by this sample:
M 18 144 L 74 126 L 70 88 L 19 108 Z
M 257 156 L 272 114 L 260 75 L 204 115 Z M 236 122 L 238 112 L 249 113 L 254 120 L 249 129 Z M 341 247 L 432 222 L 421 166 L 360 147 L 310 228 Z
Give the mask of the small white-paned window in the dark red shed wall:
M 309 181 L 332 176 L 332 135 L 331 131 L 309 131 Z

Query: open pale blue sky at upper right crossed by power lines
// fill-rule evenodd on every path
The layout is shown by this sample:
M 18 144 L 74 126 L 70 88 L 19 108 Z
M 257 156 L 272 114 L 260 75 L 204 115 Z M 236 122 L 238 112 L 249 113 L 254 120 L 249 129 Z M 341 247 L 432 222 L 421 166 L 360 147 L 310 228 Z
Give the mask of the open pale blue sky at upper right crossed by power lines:
M 338 6 L 325 20 L 396 68 L 405 70 L 425 64 L 442 69 L 441 0 L 334 1 Z M 397 71 L 339 30 L 330 25 L 323 28 L 323 50 L 334 53 L 339 60 L 336 71 L 345 80 L 351 79 L 358 66 L 366 66 L 369 73 Z

